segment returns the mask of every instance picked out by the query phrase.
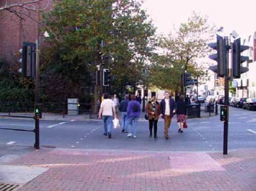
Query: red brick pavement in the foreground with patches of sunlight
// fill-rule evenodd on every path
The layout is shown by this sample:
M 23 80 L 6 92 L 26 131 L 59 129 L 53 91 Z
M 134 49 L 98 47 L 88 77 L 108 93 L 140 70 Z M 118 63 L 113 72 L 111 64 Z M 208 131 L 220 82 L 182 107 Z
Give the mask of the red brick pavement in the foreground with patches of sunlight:
M 10 164 L 49 168 L 18 191 L 256 191 L 256 149 L 222 155 L 42 148 Z

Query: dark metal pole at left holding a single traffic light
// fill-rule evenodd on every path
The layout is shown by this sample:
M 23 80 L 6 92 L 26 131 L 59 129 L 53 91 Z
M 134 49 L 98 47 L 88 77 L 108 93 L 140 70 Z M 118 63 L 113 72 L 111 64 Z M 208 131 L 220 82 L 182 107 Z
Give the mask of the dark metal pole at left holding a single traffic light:
M 39 43 L 36 40 L 36 73 L 35 73 L 35 109 L 39 105 Z M 39 118 L 35 115 L 35 144 L 34 148 L 39 149 Z

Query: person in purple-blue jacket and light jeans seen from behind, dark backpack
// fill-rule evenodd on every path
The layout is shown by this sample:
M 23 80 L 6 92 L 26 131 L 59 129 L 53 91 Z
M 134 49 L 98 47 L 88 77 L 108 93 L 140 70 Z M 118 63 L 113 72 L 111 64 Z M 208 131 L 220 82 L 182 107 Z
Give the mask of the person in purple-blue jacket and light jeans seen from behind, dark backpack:
M 129 117 L 129 128 L 127 137 L 133 136 L 133 138 L 136 138 L 137 125 L 140 116 L 140 103 L 136 101 L 135 95 L 132 95 L 131 99 L 132 100 L 127 106 L 127 115 Z

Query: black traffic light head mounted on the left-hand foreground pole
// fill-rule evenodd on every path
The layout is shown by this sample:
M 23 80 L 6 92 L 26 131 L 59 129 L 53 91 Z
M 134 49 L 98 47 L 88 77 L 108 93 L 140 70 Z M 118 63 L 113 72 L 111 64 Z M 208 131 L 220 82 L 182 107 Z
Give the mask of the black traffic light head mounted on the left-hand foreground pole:
M 19 50 L 19 53 L 22 55 L 22 58 L 19 59 L 22 67 L 18 70 L 22 74 L 22 77 L 35 77 L 35 51 L 35 43 L 23 42 L 22 49 Z

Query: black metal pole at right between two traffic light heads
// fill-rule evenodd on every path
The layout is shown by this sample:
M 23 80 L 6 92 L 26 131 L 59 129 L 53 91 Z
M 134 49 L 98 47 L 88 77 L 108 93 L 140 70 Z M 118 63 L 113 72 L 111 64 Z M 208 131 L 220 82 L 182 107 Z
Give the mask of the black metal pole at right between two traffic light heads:
M 225 105 L 227 107 L 227 112 L 226 112 L 226 121 L 224 122 L 224 132 L 223 132 L 223 154 L 227 154 L 227 146 L 228 146 L 228 116 L 229 116 L 229 100 L 228 100 L 228 81 L 229 81 L 229 39 L 228 37 L 224 37 L 225 40 L 225 46 L 226 46 L 226 76 L 224 77 L 225 79 Z

